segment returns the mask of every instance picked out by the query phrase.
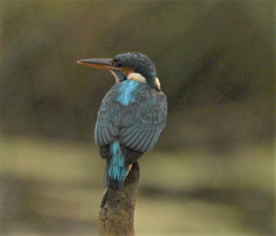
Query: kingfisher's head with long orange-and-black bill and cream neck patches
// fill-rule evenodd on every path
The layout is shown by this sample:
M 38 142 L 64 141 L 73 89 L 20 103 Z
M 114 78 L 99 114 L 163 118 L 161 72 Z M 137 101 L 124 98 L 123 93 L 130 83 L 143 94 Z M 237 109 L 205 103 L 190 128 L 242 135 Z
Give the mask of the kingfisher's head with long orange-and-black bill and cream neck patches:
M 128 52 L 119 54 L 113 59 L 84 59 L 77 63 L 110 70 L 116 78 L 116 83 L 135 80 L 160 90 L 160 81 L 156 77 L 154 63 L 141 53 Z

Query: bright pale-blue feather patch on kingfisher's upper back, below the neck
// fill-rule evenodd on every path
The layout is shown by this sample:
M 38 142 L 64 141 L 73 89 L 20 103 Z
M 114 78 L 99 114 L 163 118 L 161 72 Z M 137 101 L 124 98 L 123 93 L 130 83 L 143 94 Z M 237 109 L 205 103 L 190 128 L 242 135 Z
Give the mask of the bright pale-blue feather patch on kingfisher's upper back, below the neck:
M 122 103 L 124 106 L 129 105 L 129 103 L 135 102 L 135 95 L 133 93 L 136 87 L 139 85 L 139 82 L 134 80 L 126 80 L 121 82 L 121 87 L 118 92 L 117 101 Z

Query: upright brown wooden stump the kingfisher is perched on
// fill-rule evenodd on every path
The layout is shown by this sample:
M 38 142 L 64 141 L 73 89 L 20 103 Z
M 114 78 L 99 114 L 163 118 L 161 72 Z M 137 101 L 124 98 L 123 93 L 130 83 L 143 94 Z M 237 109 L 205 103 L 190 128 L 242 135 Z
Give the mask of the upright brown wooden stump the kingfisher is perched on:
M 134 209 L 139 186 L 138 162 L 132 165 L 122 190 L 108 188 L 99 214 L 100 236 L 135 236 Z

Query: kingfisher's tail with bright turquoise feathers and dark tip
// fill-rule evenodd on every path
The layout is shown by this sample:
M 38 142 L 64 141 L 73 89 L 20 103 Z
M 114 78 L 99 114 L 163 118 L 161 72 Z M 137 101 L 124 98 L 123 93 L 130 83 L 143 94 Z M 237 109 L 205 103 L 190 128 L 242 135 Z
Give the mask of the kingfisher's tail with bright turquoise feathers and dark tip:
M 111 189 L 122 189 L 131 165 L 125 164 L 126 152 L 120 145 L 119 141 L 115 141 L 110 144 L 109 153 L 110 155 L 106 159 L 104 187 Z

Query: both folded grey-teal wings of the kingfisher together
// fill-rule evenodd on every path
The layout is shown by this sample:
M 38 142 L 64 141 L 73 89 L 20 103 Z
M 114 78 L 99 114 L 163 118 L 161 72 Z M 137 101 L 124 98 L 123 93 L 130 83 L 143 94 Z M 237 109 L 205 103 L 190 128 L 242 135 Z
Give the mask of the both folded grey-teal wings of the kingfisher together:
M 98 113 L 95 142 L 106 146 L 119 140 L 129 149 L 148 152 L 165 127 L 166 118 L 167 98 L 163 92 L 145 90 L 128 106 L 115 101 L 114 93 L 107 93 Z

